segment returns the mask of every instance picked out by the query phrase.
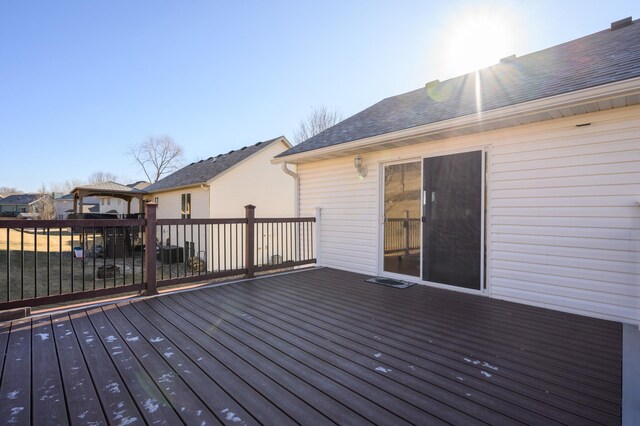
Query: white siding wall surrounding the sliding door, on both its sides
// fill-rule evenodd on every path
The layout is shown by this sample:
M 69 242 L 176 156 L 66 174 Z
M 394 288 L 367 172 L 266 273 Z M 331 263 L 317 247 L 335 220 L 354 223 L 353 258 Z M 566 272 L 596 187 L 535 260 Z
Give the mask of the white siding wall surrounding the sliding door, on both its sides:
M 366 153 L 364 180 L 352 156 L 301 164 L 301 214 L 323 209 L 321 263 L 379 272 L 381 163 L 482 147 L 487 293 L 639 323 L 640 107 Z

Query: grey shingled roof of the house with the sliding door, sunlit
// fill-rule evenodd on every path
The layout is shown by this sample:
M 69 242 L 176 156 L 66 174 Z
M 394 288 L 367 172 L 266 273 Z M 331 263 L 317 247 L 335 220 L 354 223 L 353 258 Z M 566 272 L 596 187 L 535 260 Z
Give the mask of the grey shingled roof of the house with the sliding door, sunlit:
M 640 77 L 640 23 L 629 18 L 615 24 L 612 30 L 520 58 L 514 55 L 477 72 L 384 99 L 277 157 L 475 115 L 478 100 L 480 111 L 487 112 Z

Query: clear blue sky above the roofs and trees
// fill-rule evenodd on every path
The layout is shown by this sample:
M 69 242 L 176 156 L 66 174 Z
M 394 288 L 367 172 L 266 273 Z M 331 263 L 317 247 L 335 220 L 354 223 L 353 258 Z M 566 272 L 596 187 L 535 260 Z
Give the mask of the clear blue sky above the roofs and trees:
M 0 186 L 138 180 L 126 151 L 148 136 L 187 162 L 291 138 L 314 107 L 348 117 L 472 71 L 460 38 L 507 31 L 489 65 L 627 16 L 640 2 L 2 1 Z

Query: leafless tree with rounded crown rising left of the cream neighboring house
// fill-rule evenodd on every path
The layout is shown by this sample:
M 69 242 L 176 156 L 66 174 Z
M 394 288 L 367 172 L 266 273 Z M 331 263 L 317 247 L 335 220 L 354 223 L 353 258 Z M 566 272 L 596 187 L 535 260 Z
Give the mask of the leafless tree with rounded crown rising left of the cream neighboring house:
M 129 150 L 149 182 L 176 171 L 182 165 L 182 147 L 170 136 L 149 137 Z

